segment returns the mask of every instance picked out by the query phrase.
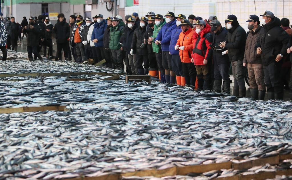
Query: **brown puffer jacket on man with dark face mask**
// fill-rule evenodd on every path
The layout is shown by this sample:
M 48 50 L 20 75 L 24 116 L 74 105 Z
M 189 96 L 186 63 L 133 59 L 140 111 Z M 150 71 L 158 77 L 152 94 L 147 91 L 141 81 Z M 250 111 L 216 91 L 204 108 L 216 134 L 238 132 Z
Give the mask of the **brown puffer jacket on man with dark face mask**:
M 246 38 L 245 51 L 243 62 L 248 64 L 262 64 L 263 61 L 260 54 L 256 53 L 256 42 L 258 40 L 258 35 L 262 26 L 258 26 L 255 32 L 253 30 L 248 31 L 248 36 Z

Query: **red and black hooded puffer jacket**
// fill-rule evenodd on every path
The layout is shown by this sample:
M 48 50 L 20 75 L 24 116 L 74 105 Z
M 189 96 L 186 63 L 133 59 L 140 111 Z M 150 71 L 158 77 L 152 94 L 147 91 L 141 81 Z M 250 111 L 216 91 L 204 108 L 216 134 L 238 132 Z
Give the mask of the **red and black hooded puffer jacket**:
M 210 32 L 211 26 L 206 24 L 206 28 L 201 30 L 199 34 L 194 33 L 194 46 L 192 57 L 194 58 L 194 65 L 205 65 L 203 64 L 204 59 L 209 63 L 212 61 L 212 49 L 210 47 L 212 43 L 212 34 Z

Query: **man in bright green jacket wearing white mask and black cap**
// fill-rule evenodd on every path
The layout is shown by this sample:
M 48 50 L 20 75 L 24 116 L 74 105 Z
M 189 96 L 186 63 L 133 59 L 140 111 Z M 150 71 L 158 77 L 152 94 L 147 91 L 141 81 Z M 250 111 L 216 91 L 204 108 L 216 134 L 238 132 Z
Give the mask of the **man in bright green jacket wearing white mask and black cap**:
M 157 65 L 160 71 L 160 82 L 166 83 L 165 76 L 163 75 L 164 73 L 162 73 L 164 72 L 164 68 L 162 66 L 161 44 L 158 44 L 158 45 L 155 44 L 155 38 L 157 37 L 158 32 L 161 30 L 162 26 L 164 26 L 166 22 L 161 14 L 157 14 L 154 18 L 155 18 L 155 25 L 154 25 L 153 35 L 148 38 L 148 42 L 152 42 L 153 52 L 155 53 Z

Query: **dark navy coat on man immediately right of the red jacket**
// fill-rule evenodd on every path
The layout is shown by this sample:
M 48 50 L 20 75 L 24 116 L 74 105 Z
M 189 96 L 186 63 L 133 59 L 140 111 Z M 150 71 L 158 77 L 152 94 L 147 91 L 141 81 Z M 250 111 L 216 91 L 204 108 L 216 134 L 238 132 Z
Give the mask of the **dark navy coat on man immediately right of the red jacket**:
M 228 54 L 222 55 L 222 52 L 226 51 L 226 47 L 222 48 L 219 46 L 220 42 L 223 42 L 227 36 L 227 30 L 223 27 L 216 33 L 213 33 L 213 62 L 214 64 L 230 63 Z M 214 49 L 215 48 L 215 49 Z

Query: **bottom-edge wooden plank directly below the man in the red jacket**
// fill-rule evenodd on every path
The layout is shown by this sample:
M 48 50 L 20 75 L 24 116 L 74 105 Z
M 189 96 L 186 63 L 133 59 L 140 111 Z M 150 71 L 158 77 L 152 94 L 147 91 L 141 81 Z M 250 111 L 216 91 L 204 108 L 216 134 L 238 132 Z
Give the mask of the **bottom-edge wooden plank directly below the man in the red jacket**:
M 199 164 L 193 166 L 177 167 L 178 175 L 186 175 L 188 173 L 203 173 L 212 170 L 231 169 L 232 162 L 212 163 L 212 164 Z

